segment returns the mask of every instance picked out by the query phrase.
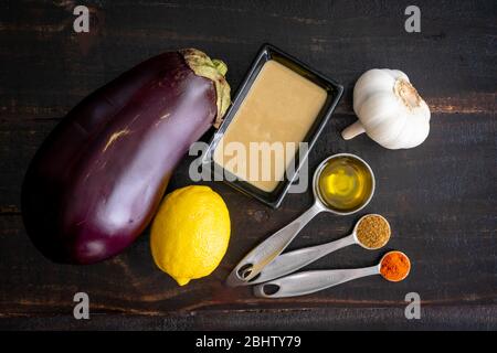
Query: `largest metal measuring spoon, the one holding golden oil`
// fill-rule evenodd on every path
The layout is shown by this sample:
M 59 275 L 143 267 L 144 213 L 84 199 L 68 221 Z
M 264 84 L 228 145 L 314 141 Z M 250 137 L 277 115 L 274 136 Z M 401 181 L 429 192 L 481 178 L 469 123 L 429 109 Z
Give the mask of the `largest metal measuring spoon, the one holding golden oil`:
M 342 159 L 345 163 L 350 165 L 360 165 L 361 170 L 367 173 L 368 192 L 361 203 L 351 210 L 338 210 L 332 207 L 320 192 L 319 180 L 322 171 L 334 159 Z M 372 199 L 374 193 L 374 174 L 371 167 L 361 158 L 350 153 L 334 154 L 325 159 L 316 169 L 313 178 L 313 193 L 315 197 L 314 205 L 310 206 L 297 220 L 283 227 L 257 247 L 252 249 L 233 269 L 226 279 L 228 286 L 246 286 L 250 280 L 254 279 L 265 266 L 271 264 L 283 250 L 292 243 L 295 236 L 304 228 L 304 226 L 321 212 L 330 212 L 337 215 L 349 215 L 362 210 Z

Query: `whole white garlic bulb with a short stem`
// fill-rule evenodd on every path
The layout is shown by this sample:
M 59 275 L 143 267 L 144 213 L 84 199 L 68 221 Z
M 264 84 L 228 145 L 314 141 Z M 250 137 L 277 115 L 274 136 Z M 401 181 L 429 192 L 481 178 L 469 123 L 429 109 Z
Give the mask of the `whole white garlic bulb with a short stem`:
M 366 132 L 389 149 L 421 145 L 430 132 L 430 108 L 401 71 L 373 68 L 353 87 L 353 111 L 359 120 L 341 136 L 349 140 Z

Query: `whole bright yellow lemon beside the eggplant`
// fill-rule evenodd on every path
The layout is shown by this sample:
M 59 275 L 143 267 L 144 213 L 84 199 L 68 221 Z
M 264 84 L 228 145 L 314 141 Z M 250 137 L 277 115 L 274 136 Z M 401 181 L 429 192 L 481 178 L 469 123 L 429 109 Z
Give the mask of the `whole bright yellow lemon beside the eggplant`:
M 230 240 L 230 214 L 209 186 L 186 186 L 166 196 L 150 234 L 156 265 L 180 286 L 210 275 Z

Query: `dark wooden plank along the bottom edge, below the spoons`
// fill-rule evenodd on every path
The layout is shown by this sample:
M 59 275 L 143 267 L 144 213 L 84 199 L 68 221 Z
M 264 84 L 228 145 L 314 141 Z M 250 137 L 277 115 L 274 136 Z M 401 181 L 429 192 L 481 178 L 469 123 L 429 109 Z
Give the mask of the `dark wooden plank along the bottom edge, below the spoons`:
M 91 320 L 70 315 L 7 318 L 0 329 L 11 330 L 495 330 L 495 306 L 423 307 L 421 320 L 406 320 L 401 307 L 326 308 L 320 310 L 212 310 L 170 317 L 99 314 Z M 367 319 L 366 319 L 367 318 Z

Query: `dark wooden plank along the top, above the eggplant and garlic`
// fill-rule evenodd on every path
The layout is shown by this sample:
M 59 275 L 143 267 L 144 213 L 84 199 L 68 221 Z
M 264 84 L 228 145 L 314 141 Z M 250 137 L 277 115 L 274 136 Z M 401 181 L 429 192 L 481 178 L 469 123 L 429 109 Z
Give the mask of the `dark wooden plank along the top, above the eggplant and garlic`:
M 429 103 L 429 98 L 435 99 L 436 107 L 461 111 L 470 104 L 468 99 L 487 108 L 495 101 L 495 11 L 486 11 L 488 6 L 441 8 L 437 3 L 421 3 L 424 26 L 420 34 L 403 31 L 400 6 L 350 7 L 338 2 L 327 9 L 318 1 L 306 4 L 306 10 L 297 11 L 294 4 L 279 12 L 274 6 L 265 12 L 265 7 L 254 1 L 239 2 L 234 8 L 152 3 L 129 11 L 131 6 L 108 2 L 101 6 L 99 12 L 95 10 L 95 15 L 104 19 L 95 24 L 93 42 L 85 51 L 78 44 L 82 35 L 71 31 L 68 20 L 73 17 L 66 9 L 35 2 L 28 11 L 22 2 L 12 4 L 17 17 L 7 18 L 0 26 L 8 49 L 0 53 L 0 62 L 6 63 L 0 67 L 6 93 L 0 97 L 2 116 L 60 117 L 144 57 L 189 45 L 224 58 L 230 66 L 229 78 L 236 86 L 264 41 L 294 53 L 348 87 L 368 68 L 401 67 L 422 88 Z M 33 8 L 39 13 L 34 19 L 30 18 Z M 309 11 L 313 13 L 306 13 Z M 220 13 L 223 21 L 213 25 L 212 18 Z M 476 13 L 483 17 L 482 24 L 473 26 Z M 192 25 L 193 17 L 203 20 Z M 452 24 L 455 19 L 457 25 Z M 251 31 L 243 23 L 253 24 Z M 292 29 L 292 35 L 283 30 L 286 28 Z M 17 63 L 15 69 L 10 67 L 12 62 Z M 350 98 L 346 96 L 349 111 Z M 451 98 L 452 104 L 438 103 Z

